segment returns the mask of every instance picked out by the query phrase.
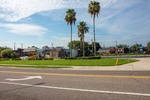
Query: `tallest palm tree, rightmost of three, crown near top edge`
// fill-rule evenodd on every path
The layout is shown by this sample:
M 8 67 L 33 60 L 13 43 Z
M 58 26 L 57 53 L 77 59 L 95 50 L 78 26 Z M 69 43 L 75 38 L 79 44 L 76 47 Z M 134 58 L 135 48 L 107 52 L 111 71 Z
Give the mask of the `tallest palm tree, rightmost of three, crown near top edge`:
M 93 33 L 94 33 L 94 55 L 96 56 L 96 45 L 95 45 L 95 15 L 97 15 L 100 13 L 100 3 L 96 2 L 96 1 L 91 1 L 89 3 L 89 7 L 88 7 L 88 13 L 91 14 L 91 17 L 93 15 Z

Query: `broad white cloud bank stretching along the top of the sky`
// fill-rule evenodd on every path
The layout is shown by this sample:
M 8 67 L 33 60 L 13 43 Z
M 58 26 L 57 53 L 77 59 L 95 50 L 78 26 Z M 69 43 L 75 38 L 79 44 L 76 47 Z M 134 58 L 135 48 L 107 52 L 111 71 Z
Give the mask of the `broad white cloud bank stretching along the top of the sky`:
M 91 0 L 0 0 L 0 18 L 6 21 L 18 21 L 38 12 L 52 11 L 63 8 L 87 8 Z M 97 0 L 100 2 L 101 11 L 107 8 L 125 9 L 138 1 L 129 0 Z M 44 13 L 41 13 L 45 15 Z M 49 16 L 54 16 L 52 13 Z M 47 16 L 47 14 L 46 14 Z M 56 16 L 55 16 L 56 17 Z M 54 18 L 55 18 L 54 17 Z

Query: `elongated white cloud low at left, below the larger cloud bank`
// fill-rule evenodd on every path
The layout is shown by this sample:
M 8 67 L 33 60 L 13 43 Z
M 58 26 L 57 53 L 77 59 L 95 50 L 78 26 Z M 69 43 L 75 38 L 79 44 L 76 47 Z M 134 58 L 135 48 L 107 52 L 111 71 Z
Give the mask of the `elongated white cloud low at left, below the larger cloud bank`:
M 14 33 L 17 35 L 32 35 L 32 36 L 42 36 L 45 34 L 46 28 L 37 25 L 29 25 L 29 24 L 2 24 L 0 23 L 0 27 L 4 27 L 9 29 L 10 33 Z

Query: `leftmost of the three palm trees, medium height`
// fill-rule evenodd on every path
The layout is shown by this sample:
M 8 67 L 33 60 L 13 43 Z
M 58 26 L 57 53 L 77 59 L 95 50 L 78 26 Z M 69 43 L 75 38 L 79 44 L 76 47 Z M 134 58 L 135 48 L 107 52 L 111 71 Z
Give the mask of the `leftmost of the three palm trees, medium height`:
M 72 57 L 72 23 L 74 23 L 74 25 L 75 25 L 76 12 L 74 11 L 74 9 L 68 9 L 68 11 L 66 11 L 66 13 L 67 13 L 67 15 L 65 16 L 65 21 L 67 22 L 67 25 L 70 24 L 70 26 L 71 26 L 70 57 Z

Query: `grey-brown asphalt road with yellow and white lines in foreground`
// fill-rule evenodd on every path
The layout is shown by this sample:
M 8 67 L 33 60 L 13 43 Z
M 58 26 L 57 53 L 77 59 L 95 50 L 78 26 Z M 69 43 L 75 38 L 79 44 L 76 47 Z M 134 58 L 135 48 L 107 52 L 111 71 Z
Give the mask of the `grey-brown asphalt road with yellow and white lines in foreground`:
M 150 71 L 0 67 L 0 100 L 150 100 Z

